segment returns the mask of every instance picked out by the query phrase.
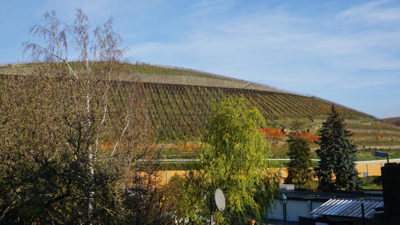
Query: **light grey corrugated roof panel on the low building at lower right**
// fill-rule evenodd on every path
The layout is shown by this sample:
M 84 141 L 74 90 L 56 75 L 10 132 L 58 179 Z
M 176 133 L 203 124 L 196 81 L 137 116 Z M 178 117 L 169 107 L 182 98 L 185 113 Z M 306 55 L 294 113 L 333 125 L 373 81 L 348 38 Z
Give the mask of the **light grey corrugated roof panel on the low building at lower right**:
M 361 203 L 364 203 L 364 212 L 366 218 L 373 217 L 375 212 L 374 208 L 383 207 L 382 201 L 329 199 L 329 201 L 314 209 L 314 211 L 311 213 L 316 215 L 334 215 L 361 218 Z

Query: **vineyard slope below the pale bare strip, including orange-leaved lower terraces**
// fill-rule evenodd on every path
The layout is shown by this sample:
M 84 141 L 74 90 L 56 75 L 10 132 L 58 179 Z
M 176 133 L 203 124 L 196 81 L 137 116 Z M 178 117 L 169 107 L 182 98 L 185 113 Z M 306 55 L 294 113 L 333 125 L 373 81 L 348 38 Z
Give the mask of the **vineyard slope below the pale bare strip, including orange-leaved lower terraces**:
M 130 91 L 131 85 L 136 84 L 124 83 L 121 93 Z M 200 147 L 193 148 L 184 143 L 201 141 L 211 105 L 226 97 L 246 98 L 249 107 L 260 110 L 268 124 L 261 130 L 278 158 L 286 158 L 285 140 L 290 133 L 289 124 L 295 117 L 308 121 L 310 132 L 302 133 L 302 136 L 310 141 L 312 149 L 316 149 L 314 141 L 331 106 L 331 102 L 318 98 L 285 92 L 147 82 L 138 87 L 144 93 L 152 123 L 158 128 L 165 159 L 196 159 L 200 156 Z M 347 128 L 354 133 L 352 139 L 360 149 L 360 159 L 375 159 L 374 149 L 388 149 L 393 156 L 400 156 L 400 127 L 344 106 L 338 107 L 346 118 Z M 179 147 L 168 143 L 176 143 Z

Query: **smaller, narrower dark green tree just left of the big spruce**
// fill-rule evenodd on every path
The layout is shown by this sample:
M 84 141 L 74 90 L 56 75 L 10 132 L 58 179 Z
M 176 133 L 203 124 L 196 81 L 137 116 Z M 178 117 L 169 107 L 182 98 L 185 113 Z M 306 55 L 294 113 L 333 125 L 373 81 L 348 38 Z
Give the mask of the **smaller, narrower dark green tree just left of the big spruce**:
M 300 133 L 304 129 L 302 121 L 293 121 L 290 124 L 290 129 L 293 132 L 287 140 L 290 162 L 288 163 L 288 177 L 286 177 L 285 183 L 297 183 L 301 188 L 307 181 L 312 180 L 310 143 L 300 136 Z

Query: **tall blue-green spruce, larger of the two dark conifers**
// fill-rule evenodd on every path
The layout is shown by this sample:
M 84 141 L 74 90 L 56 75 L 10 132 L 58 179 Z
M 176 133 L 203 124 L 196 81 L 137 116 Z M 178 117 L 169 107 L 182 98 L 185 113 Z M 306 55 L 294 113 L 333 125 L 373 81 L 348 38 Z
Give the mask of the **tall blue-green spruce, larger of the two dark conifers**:
M 321 137 L 316 141 L 320 146 L 315 152 L 321 161 L 314 167 L 320 189 L 360 190 L 362 188 L 356 169 L 356 145 L 353 135 L 344 127 L 344 119 L 332 105 L 328 119 L 322 124 Z M 332 183 L 333 175 L 336 177 Z

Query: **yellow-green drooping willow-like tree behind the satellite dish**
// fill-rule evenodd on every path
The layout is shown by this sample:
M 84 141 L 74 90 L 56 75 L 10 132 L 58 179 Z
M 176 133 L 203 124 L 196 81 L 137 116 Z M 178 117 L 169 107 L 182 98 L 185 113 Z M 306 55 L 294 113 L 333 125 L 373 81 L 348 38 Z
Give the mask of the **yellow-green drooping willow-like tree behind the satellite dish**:
M 215 211 L 216 224 L 246 221 L 250 215 L 260 220 L 271 209 L 279 184 L 277 173 L 268 169 L 274 163 L 265 160 L 271 150 L 259 129 L 262 126 L 265 121 L 259 110 L 248 108 L 243 98 L 227 98 L 213 107 L 203 140 L 203 170 L 191 171 L 186 186 L 193 191 L 199 217 L 209 218 L 209 200 L 217 188 L 224 192 L 227 210 Z

